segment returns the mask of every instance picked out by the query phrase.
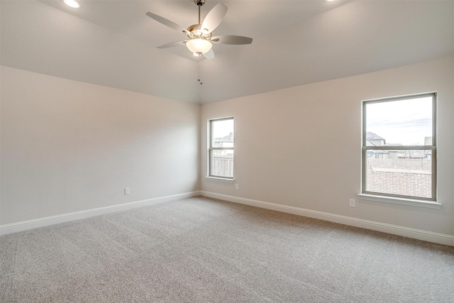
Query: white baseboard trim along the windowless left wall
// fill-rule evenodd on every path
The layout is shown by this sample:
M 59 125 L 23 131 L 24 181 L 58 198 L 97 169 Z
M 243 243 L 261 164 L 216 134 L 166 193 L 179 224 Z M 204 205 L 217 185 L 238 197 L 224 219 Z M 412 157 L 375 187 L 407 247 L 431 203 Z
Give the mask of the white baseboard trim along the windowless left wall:
M 126 209 L 134 209 L 137 207 L 150 206 L 164 202 L 171 202 L 178 199 L 190 198 L 199 196 L 200 191 L 186 192 L 184 194 L 173 194 L 172 196 L 165 196 L 153 199 L 146 199 L 135 202 L 128 202 L 123 204 L 116 204 L 111 206 L 99 207 L 96 209 L 87 209 L 84 211 L 75 211 L 69 214 L 60 214 L 57 216 L 47 216 L 45 218 L 33 219 L 28 221 L 21 221 L 12 224 L 0 225 L 0 236 L 8 233 L 16 233 L 18 231 L 26 231 L 28 229 L 49 226 L 53 224 L 60 224 L 69 221 L 89 218 L 91 216 L 99 216 L 101 214 L 109 214 L 116 211 L 124 211 Z

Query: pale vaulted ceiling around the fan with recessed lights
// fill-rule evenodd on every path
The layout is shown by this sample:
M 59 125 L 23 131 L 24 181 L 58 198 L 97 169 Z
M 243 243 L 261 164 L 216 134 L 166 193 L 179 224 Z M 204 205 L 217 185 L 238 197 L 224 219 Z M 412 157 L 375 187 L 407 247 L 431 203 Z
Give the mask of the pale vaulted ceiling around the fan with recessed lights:
M 214 35 L 251 45 L 214 45 L 214 60 L 147 11 L 187 28 L 193 0 L 1 1 L 1 65 L 206 104 L 454 55 L 454 1 L 211 1 L 228 7 Z M 201 79 L 201 85 L 197 79 Z

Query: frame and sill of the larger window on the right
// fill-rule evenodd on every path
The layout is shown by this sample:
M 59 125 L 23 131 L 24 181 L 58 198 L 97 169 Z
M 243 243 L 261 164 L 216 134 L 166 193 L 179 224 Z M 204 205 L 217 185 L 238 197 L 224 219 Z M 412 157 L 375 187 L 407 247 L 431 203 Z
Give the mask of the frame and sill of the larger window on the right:
M 437 161 L 436 161 L 436 92 L 427 92 L 423 94 L 411 94 L 398 97 L 387 97 L 381 99 L 368 99 L 362 100 L 362 153 L 361 153 L 361 192 L 358 194 L 359 199 L 368 200 L 373 202 L 385 202 L 392 204 L 403 204 L 409 206 L 421 206 L 427 208 L 440 209 L 441 203 L 437 202 Z M 367 136 L 366 136 L 366 104 L 370 103 L 379 103 L 387 101 L 399 101 L 404 99 L 414 99 L 419 97 L 431 97 L 432 98 L 432 144 L 431 145 L 380 145 L 380 146 L 370 146 L 367 145 Z M 421 198 L 421 197 L 411 197 L 403 196 L 398 194 L 384 194 L 378 192 L 367 192 L 366 187 L 366 160 L 367 160 L 367 150 L 431 150 L 432 153 L 432 197 L 431 198 Z

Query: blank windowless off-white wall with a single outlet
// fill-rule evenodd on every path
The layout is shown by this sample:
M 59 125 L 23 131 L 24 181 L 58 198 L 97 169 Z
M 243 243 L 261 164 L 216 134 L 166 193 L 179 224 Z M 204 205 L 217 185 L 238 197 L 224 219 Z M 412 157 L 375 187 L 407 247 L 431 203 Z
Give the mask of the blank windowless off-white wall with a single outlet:
M 0 225 L 198 190 L 199 120 L 197 104 L 2 66 Z

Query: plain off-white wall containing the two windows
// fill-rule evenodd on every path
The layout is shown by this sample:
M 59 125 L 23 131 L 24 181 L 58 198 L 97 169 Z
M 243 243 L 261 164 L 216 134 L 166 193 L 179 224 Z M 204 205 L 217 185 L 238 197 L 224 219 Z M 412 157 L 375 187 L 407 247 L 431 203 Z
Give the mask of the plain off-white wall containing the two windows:
M 358 201 L 361 100 L 438 92 L 441 209 Z M 235 118 L 235 183 L 206 180 L 206 121 Z M 242 97 L 201 109 L 201 190 L 454 235 L 454 58 Z M 348 206 L 348 199 L 357 206 Z

